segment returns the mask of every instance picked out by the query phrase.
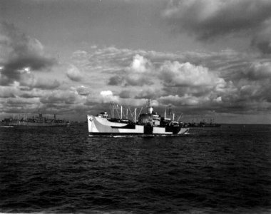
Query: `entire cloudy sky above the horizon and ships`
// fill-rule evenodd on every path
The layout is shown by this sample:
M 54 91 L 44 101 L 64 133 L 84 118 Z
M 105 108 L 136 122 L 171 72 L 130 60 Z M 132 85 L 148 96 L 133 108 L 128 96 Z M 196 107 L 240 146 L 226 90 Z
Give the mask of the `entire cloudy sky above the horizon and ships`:
M 271 123 L 269 0 L 0 0 L 0 119 L 86 121 L 151 99 L 185 122 Z

